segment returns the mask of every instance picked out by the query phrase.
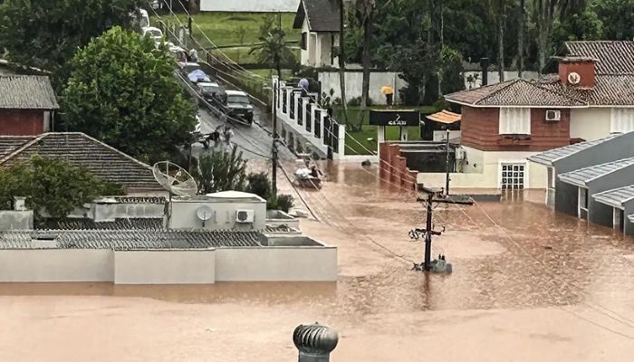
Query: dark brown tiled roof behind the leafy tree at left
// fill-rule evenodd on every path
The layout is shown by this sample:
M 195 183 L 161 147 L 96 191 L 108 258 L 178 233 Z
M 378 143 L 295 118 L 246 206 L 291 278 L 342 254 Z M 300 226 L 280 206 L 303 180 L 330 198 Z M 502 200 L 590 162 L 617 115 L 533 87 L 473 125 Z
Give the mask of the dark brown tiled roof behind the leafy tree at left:
M 0 167 L 14 165 L 35 154 L 86 167 L 94 176 L 120 184 L 128 195 L 168 194 L 154 179 L 152 167 L 81 132 L 0 136 Z

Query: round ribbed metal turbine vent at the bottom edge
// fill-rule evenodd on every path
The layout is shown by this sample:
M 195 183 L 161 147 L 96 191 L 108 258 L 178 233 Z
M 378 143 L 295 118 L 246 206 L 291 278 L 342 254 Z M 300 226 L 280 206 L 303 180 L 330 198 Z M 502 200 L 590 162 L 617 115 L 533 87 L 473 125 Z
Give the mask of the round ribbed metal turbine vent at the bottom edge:
M 330 362 L 338 341 L 336 330 L 317 322 L 300 324 L 293 332 L 293 343 L 300 351 L 299 362 Z

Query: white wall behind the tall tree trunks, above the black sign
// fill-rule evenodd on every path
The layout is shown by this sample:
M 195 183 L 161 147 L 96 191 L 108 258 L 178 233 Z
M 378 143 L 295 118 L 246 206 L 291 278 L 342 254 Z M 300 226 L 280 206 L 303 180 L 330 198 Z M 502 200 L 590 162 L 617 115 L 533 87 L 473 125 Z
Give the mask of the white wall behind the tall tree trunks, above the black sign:
M 332 98 L 341 98 L 339 84 L 339 72 L 320 71 L 318 80 L 322 82 L 322 93 L 330 94 L 334 90 Z M 359 98 L 363 85 L 363 73 L 361 71 L 346 71 L 346 100 Z M 407 86 L 407 81 L 399 78 L 399 74 L 393 71 L 373 71 L 370 73 L 370 100 L 374 104 L 385 104 L 385 96 L 380 89 L 384 86 L 394 88 L 394 101 L 399 101 L 399 90 Z

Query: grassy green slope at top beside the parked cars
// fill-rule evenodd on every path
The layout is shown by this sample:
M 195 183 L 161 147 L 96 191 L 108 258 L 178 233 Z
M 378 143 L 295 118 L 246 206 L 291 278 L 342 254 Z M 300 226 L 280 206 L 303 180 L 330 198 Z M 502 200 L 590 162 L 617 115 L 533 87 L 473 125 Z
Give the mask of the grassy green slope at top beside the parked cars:
M 253 43 L 258 42 L 260 36 L 260 26 L 264 24 L 267 16 L 273 16 L 275 21 L 277 14 L 266 13 L 203 13 L 193 16 L 194 24 L 192 25 L 192 33 L 197 43 L 203 48 L 213 47 L 211 40 L 218 46 L 238 45 L 239 47 L 224 48 L 220 50 L 211 50 L 212 53 L 220 55 L 224 52 L 229 58 L 238 63 L 255 63 L 255 54 L 249 54 Z M 299 29 L 293 29 L 293 19 L 295 14 L 282 14 L 282 27 L 286 32 L 288 41 L 299 41 L 301 32 Z M 178 24 L 177 20 L 168 15 L 162 15 L 161 18 L 169 24 Z M 178 14 L 178 18 L 183 24 L 187 25 L 187 15 Z M 159 25 L 156 19 L 151 20 L 154 25 Z M 197 26 L 198 25 L 198 26 Z M 206 36 L 207 35 L 207 36 Z M 209 40 L 207 40 L 207 37 Z M 295 46 L 297 46 L 295 44 Z M 299 50 L 296 50 L 299 57 Z M 204 56 L 200 53 L 200 56 Z

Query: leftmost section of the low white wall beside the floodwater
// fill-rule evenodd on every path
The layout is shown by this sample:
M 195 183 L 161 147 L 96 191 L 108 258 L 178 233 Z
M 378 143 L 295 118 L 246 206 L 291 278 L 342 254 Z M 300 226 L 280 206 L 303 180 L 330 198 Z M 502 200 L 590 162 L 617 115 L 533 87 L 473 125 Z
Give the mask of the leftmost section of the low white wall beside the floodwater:
M 112 281 L 110 250 L 0 250 L 0 282 Z

